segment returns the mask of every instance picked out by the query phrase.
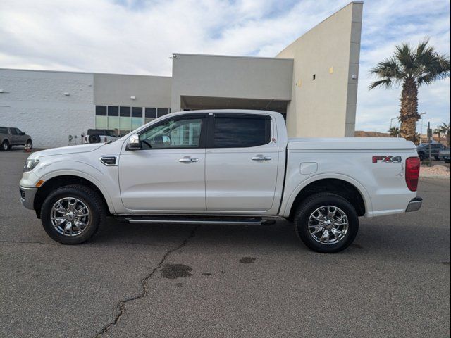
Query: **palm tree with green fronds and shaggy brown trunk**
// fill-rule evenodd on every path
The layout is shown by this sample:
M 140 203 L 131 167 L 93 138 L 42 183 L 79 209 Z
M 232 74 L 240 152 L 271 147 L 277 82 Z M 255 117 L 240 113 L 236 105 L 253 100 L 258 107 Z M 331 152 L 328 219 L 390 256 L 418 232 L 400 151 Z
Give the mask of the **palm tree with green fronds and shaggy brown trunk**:
M 450 77 L 450 58 L 438 54 L 429 39 L 419 42 L 416 49 L 409 44 L 395 46 L 395 53 L 390 58 L 378 63 L 370 73 L 381 80 L 373 82 L 369 89 L 376 87 L 392 88 L 402 84 L 400 134 L 414 142 L 416 139 L 416 121 L 418 114 L 418 88 L 436 80 Z

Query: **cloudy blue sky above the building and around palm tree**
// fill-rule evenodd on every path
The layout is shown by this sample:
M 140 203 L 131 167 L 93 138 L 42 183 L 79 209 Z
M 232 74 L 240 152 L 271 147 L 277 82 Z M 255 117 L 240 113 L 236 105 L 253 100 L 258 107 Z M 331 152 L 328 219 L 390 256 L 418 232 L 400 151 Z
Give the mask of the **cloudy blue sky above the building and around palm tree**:
M 0 68 L 171 75 L 173 52 L 275 56 L 349 0 L 1 0 Z M 367 90 L 401 42 L 450 53 L 450 1 L 364 3 L 357 130 L 385 132 L 400 89 Z M 424 122 L 450 120 L 450 80 L 420 89 Z

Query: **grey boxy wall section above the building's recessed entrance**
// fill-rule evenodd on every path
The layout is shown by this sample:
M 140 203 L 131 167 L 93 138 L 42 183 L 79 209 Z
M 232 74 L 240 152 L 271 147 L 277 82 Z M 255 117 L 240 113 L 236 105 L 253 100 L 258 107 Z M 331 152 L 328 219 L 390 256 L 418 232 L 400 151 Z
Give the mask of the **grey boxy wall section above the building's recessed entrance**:
M 172 111 L 184 95 L 290 100 L 292 67 L 283 58 L 174 54 Z

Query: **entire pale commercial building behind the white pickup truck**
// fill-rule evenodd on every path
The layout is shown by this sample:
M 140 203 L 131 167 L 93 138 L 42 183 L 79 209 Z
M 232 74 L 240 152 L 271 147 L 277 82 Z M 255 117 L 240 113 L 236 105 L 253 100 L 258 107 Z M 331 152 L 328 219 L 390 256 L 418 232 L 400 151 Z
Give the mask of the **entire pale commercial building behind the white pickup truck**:
M 350 137 L 362 6 L 350 3 L 275 58 L 173 54 L 172 77 L 0 69 L 0 126 L 54 147 L 171 111 L 245 108 L 283 113 L 290 137 Z

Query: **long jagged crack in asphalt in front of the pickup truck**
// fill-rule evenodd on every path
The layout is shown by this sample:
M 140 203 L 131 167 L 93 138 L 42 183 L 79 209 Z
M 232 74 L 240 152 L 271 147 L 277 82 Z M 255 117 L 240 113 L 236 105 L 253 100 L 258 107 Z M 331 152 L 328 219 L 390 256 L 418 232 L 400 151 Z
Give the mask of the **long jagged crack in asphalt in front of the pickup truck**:
M 125 304 L 128 303 L 129 301 L 135 301 L 136 299 L 141 299 L 147 296 L 148 291 L 147 291 L 147 280 L 149 280 L 150 278 L 152 278 L 152 276 L 156 273 L 157 270 L 159 270 L 163 264 L 165 263 L 166 259 L 171 255 L 171 253 L 178 251 L 180 249 L 183 248 L 183 246 L 185 246 L 188 241 L 190 239 L 192 239 L 192 237 L 195 236 L 197 229 L 199 229 L 200 225 L 196 225 L 195 227 L 192 228 L 190 234 L 183 240 L 182 243 L 180 243 L 178 246 L 173 247 L 172 249 L 169 249 L 168 251 L 166 251 L 163 254 L 163 257 L 161 258 L 161 260 L 159 261 L 159 263 L 152 269 L 152 271 L 141 280 L 141 287 L 142 290 L 140 292 L 140 294 L 137 294 L 135 296 L 132 296 L 130 298 L 127 299 L 123 299 L 122 301 L 119 301 L 116 304 L 116 308 L 118 309 L 118 313 L 116 314 L 116 318 L 114 318 L 113 321 L 111 321 L 109 324 L 105 325 L 103 327 L 103 329 L 97 333 L 95 335 L 96 338 L 101 337 L 102 334 L 105 334 L 106 332 L 108 332 L 108 330 L 113 326 L 116 325 L 118 323 L 118 321 L 121 319 L 122 315 L 125 313 Z

